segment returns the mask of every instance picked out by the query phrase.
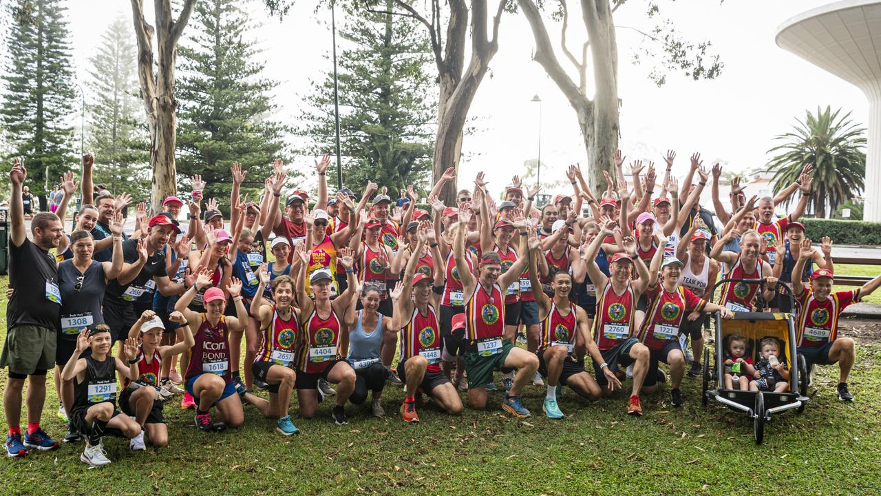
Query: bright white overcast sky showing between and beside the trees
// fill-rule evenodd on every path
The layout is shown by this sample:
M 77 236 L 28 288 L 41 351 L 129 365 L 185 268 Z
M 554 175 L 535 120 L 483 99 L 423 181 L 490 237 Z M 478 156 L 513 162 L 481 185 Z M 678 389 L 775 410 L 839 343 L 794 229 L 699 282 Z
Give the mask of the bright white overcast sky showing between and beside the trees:
M 144 2 L 151 19 L 150 0 Z M 699 151 L 705 163 L 729 162 L 729 169 L 762 166 L 773 138 L 787 132 L 795 117 L 806 109 L 832 105 L 852 111 L 859 123 L 867 116 L 862 93 L 843 80 L 818 69 L 774 43 L 781 23 L 823 0 L 678 0 L 662 3 L 663 14 L 673 19 L 690 40 L 710 40 L 725 64 L 722 76 L 694 81 L 673 73 L 667 84 L 650 81 L 648 66 L 632 63 L 633 48 L 643 41 L 639 34 L 619 27 L 618 95 L 621 107 L 620 146 L 629 158 L 661 161 L 661 154 L 677 151 L 676 169 L 682 173 L 687 157 Z M 70 0 L 70 32 L 78 69 L 100 41 L 100 34 L 118 15 L 131 19 L 130 4 L 121 0 Z M 276 92 L 281 111 L 278 119 L 292 123 L 308 94 L 308 80 L 329 68 L 323 57 L 331 45 L 329 11 L 314 12 L 315 4 L 298 2 L 284 21 L 270 19 L 259 0 L 249 11 L 263 24 L 255 39 L 264 49 L 267 76 L 281 82 Z M 615 14 L 618 26 L 648 29 L 644 2 L 628 2 Z M 577 41 L 580 22 L 570 23 L 569 39 Z M 559 26 L 549 28 L 559 45 Z M 576 44 L 577 43 L 577 44 Z M 501 22 L 500 48 L 492 59 L 491 73 L 480 86 L 470 117 L 478 132 L 463 141 L 470 154 L 467 180 L 482 169 L 492 177 L 491 186 L 505 184 L 512 170 L 537 154 L 538 109 L 534 94 L 542 100 L 541 156 L 545 174 L 561 176 L 566 165 L 586 164 L 581 134 L 563 94 L 540 65 L 531 60 L 534 48 L 529 24 L 522 16 L 507 14 Z M 565 63 L 565 61 L 563 61 Z M 82 73 L 82 72 L 81 72 Z M 293 138 L 293 137 L 292 137 Z M 308 161 L 308 162 L 307 162 Z M 311 164 L 307 157 L 298 165 Z M 463 173 L 461 177 L 465 179 Z M 543 181 L 544 182 L 544 181 Z

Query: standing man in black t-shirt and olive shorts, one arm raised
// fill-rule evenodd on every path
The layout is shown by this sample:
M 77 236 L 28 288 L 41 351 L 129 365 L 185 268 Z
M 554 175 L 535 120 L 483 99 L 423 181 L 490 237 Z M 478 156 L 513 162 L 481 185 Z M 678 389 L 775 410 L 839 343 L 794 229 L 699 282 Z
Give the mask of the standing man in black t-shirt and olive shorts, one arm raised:
M 6 308 L 6 342 L 0 366 L 9 367 L 4 409 L 9 424 L 6 453 L 12 457 L 26 455 L 27 447 L 58 447 L 57 441 L 40 428 L 40 418 L 46 401 L 46 371 L 55 366 L 56 326 L 61 310 L 58 268 L 49 250 L 58 247 L 64 229 L 56 214 L 36 214 L 31 222 L 33 242 L 27 239 L 21 191 L 27 171 L 16 161 L 9 177 L 9 285 L 15 292 Z M 29 380 L 27 432 L 22 440 L 19 422 L 25 380 Z

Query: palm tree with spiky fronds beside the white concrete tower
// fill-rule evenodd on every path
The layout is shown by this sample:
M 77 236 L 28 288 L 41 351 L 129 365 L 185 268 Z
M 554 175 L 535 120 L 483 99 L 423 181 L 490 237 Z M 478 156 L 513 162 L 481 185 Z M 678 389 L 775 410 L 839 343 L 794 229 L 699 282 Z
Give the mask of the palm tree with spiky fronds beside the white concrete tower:
M 806 112 L 804 122 L 798 121 L 793 131 L 775 137 L 782 143 L 768 150 L 776 154 L 767 163 L 767 171 L 774 172 L 774 194 L 792 184 L 807 164 L 813 164 L 811 197 L 808 206 L 818 217 L 826 216 L 826 209 L 834 212 L 840 204 L 862 192 L 866 173 L 865 128 L 826 107 L 817 114 Z M 788 204 L 787 200 L 784 205 Z

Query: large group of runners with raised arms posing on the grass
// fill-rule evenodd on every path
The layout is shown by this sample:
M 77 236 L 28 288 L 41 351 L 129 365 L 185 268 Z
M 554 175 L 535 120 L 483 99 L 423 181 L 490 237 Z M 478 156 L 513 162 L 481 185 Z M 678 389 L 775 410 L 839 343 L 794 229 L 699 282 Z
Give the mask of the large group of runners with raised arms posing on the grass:
M 109 462 L 101 441 L 108 434 L 135 450 L 165 446 L 163 408 L 175 395 L 195 410 L 201 431 L 242 425 L 252 405 L 291 435 L 299 431 L 294 391 L 299 417 L 319 415 L 328 401 L 330 417 L 344 425 L 347 403 L 382 417 L 384 388 L 400 386 L 398 413 L 416 423 L 426 397 L 449 415 L 463 411 L 459 391 L 470 408 L 487 408 L 501 372 L 500 406 L 514 417 L 530 416 L 521 399 L 530 384 L 546 387 L 544 414 L 563 418 L 562 387 L 596 402 L 628 379 L 626 411 L 639 416 L 640 395 L 668 380 L 660 362 L 669 365 L 670 402 L 682 406 L 680 385 L 688 362 L 688 373 L 699 374 L 709 315 L 779 309 L 786 302 L 777 281 L 796 296 L 797 308 L 784 311 L 797 312 L 799 353 L 811 365 L 838 363 L 837 395 L 852 401 L 855 348 L 838 337 L 838 316 L 881 276 L 832 292 L 832 241 L 818 250 L 797 222 L 811 195 L 810 167 L 777 198 L 746 199 L 733 183 L 728 211 L 718 199 L 722 169 L 704 169 L 700 154 L 681 185 L 673 153 L 660 184 L 654 164 L 633 162 L 625 175 L 625 158 L 614 158 L 618 179 L 608 177 L 599 199 L 570 167 L 573 192 L 540 208 L 538 186 L 515 176 L 497 202 L 483 173 L 446 205 L 439 197 L 455 183 L 453 169 L 427 195 L 430 209 L 418 208 L 412 188 L 393 207 L 372 182 L 360 194 L 330 195 L 327 156 L 315 162 L 314 204 L 295 189 L 282 206 L 280 161 L 258 201 L 241 193 L 248 171 L 233 164 L 228 219 L 215 199 L 203 207 L 204 182 L 192 177 L 189 199 L 168 197 L 150 214 L 137 205 L 129 234 L 122 210 L 130 197 L 93 195 L 93 157 L 85 155 L 81 188 L 93 203 L 66 233 L 78 191 L 66 173 L 56 213 L 35 214 L 30 237 L 20 201 L 26 169 L 15 162 L 0 357 L 9 369 L 7 453 L 59 447 L 41 429 L 53 368 L 58 416 L 68 422 L 63 441 L 85 440 L 80 458 L 93 466 Z M 700 206 L 710 180 L 721 229 Z M 796 190 L 795 210 L 777 218 L 775 206 Z M 726 283 L 711 301 L 719 277 L 752 282 Z M 752 354 L 743 336 L 725 343 L 725 387 L 786 390 L 779 343 L 755 345 Z

